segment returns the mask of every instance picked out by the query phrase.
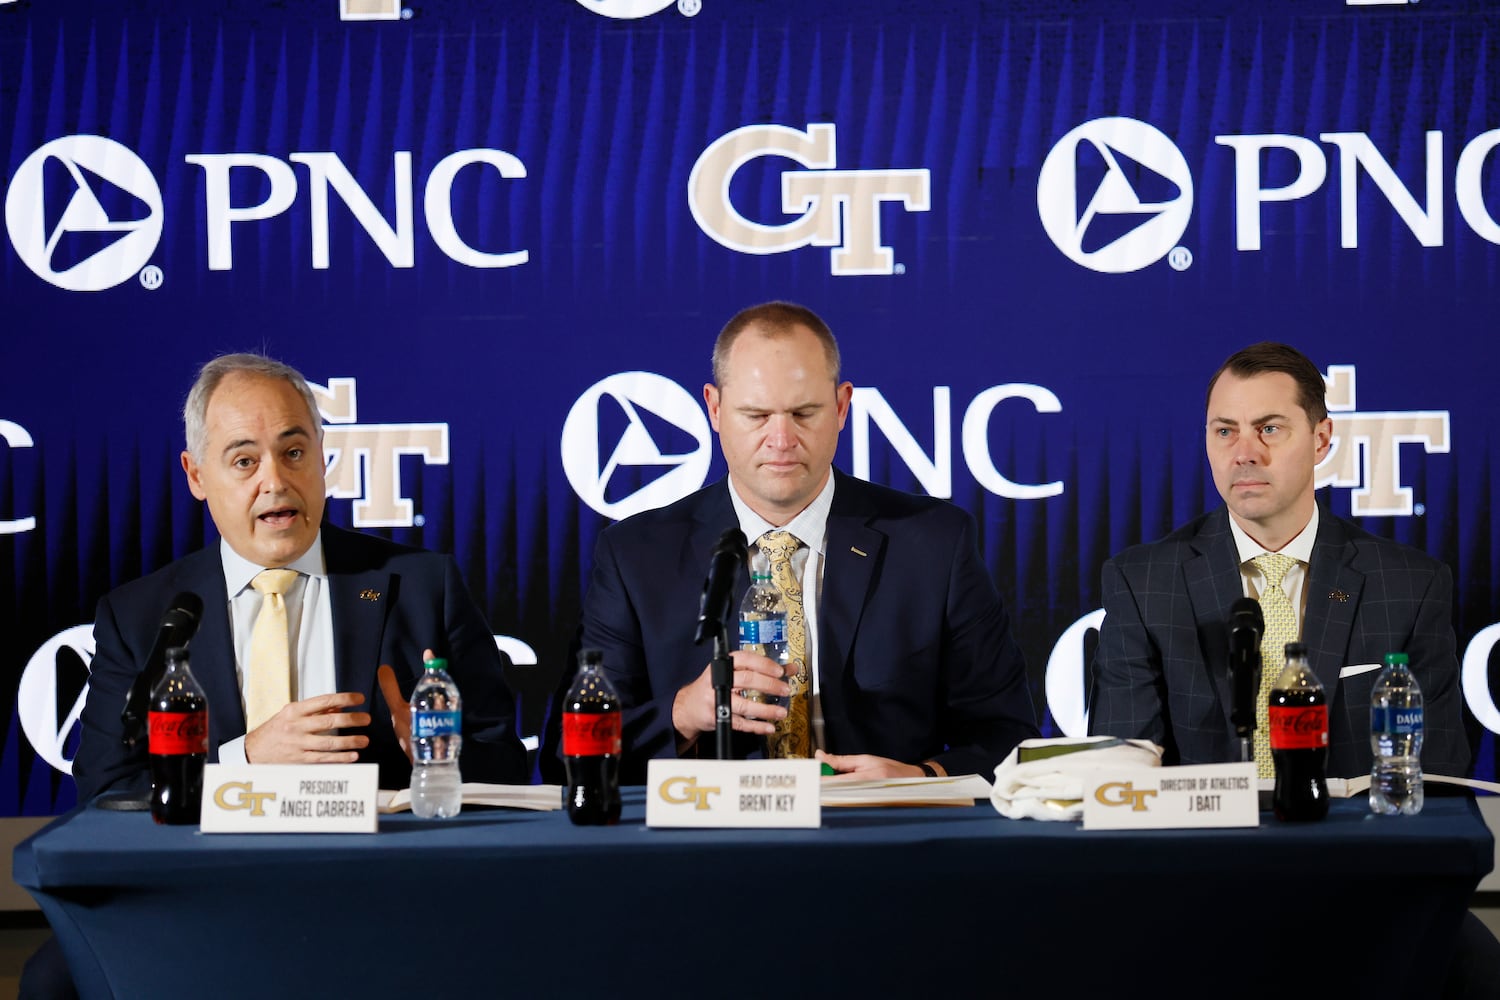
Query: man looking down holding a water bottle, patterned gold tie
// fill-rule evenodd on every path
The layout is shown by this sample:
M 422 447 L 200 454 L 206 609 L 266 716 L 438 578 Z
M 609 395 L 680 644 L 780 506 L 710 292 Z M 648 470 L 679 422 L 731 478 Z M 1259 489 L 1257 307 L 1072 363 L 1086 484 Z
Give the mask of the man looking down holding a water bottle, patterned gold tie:
M 644 783 L 652 757 L 714 753 L 694 609 L 732 528 L 766 556 L 790 660 L 734 654 L 735 757 L 818 757 L 870 778 L 993 774 L 1036 726 L 974 519 L 832 468 L 854 387 L 810 309 L 742 310 L 712 369 L 704 400 L 729 475 L 606 528 L 594 549 L 582 642 L 620 693 L 621 780 Z M 748 585 L 741 567 L 735 592 Z

